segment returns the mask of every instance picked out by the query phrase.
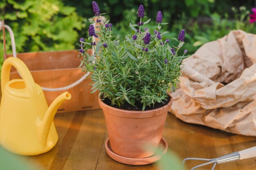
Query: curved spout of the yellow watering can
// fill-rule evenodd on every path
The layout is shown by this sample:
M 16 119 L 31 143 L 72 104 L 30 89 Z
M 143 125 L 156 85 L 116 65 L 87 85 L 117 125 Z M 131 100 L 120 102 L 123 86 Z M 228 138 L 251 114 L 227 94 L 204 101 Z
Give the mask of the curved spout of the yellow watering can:
M 52 121 L 54 119 L 54 116 L 58 110 L 58 107 L 65 102 L 66 100 L 71 99 L 71 94 L 68 92 L 64 92 L 61 95 L 59 95 L 53 102 L 52 104 L 49 106 L 48 110 L 45 113 L 45 116 L 43 118 L 43 121 L 40 124 L 40 130 L 41 133 L 39 134 L 40 137 L 42 137 L 43 139 L 41 140 L 44 144 L 47 140 L 48 134 L 49 134 L 49 130 L 51 128 L 52 125 Z

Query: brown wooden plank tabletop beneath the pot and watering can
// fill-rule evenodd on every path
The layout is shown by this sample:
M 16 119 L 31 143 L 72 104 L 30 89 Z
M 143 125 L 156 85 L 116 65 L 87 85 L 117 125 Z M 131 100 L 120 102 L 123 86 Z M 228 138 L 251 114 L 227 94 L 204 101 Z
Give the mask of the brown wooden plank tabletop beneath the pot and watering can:
M 112 160 L 106 153 L 108 138 L 102 110 L 59 113 L 54 118 L 58 143 L 49 152 L 20 156 L 43 170 L 157 170 L 157 165 L 129 166 Z M 214 158 L 256 146 L 256 137 L 234 135 L 205 126 L 187 124 L 168 113 L 163 137 L 168 150 L 181 159 Z M 200 162 L 188 162 L 188 167 Z M 202 162 L 201 162 L 202 163 Z M 210 170 L 210 166 L 203 168 Z M 215 170 L 255 170 L 256 158 L 220 164 Z M 172 168 L 170 167 L 170 170 Z M 202 170 L 202 169 L 200 169 Z

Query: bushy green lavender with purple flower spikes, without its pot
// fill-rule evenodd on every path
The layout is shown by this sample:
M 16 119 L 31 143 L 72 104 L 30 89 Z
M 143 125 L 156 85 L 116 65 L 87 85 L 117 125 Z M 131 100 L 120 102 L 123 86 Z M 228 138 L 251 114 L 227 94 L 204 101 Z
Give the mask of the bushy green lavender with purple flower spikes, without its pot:
M 88 40 L 80 39 L 80 57 L 82 70 L 91 72 L 93 81 L 92 93 L 99 90 L 102 98 L 108 98 L 112 106 L 121 106 L 128 103 L 135 106 L 136 103 L 146 106 L 154 106 L 156 102 L 167 100 L 166 90 L 177 86 L 181 76 L 181 64 L 187 50 L 178 55 L 179 49 L 184 44 L 185 31 L 182 30 L 178 36 L 177 46 L 170 46 L 169 40 L 163 40 L 161 33 L 162 12 L 156 17 L 156 29 L 141 30 L 141 25 L 150 22 L 146 20 L 143 5 L 139 6 L 139 22 L 130 23 L 131 33 L 126 35 L 124 42 L 119 42 L 111 35 L 112 24 L 110 20 L 99 20 L 100 13 L 98 4 L 92 2 L 96 22 L 89 27 Z M 103 24 L 100 24 L 103 23 Z M 152 32 L 152 34 L 151 34 Z M 94 42 L 92 37 L 99 38 Z M 85 47 L 86 46 L 86 47 Z M 85 53 L 88 48 L 93 48 L 95 53 Z

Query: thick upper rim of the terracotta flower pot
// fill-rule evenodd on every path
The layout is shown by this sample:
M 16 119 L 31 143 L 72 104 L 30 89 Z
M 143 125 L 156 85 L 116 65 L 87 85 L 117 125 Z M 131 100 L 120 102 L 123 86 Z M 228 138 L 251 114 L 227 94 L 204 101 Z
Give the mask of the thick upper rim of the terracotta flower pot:
M 170 93 L 167 92 L 167 94 L 171 97 Z M 160 108 L 155 108 L 152 110 L 144 110 L 144 111 L 142 110 L 133 111 L 133 110 L 124 110 L 120 108 L 115 108 L 105 104 L 100 97 L 98 97 L 98 102 L 101 108 L 107 109 L 108 113 L 110 114 L 121 116 L 121 117 L 146 118 L 146 117 L 154 117 L 154 116 L 158 116 L 166 113 L 166 111 L 169 110 L 169 108 L 171 107 L 171 104 L 173 103 L 173 97 L 171 97 L 170 101 L 166 105 Z

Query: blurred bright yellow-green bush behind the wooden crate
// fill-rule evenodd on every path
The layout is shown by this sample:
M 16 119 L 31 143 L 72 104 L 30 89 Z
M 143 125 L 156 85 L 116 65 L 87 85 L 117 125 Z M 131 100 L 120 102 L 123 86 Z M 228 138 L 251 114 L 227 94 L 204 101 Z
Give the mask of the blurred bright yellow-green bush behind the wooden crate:
M 0 19 L 13 30 L 17 52 L 74 49 L 82 18 L 61 0 L 2 0 Z M 3 40 L 0 34 L 0 63 L 3 62 Z M 6 31 L 7 53 L 11 41 Z M 2 64 L 0 64 L 2 65 Z

